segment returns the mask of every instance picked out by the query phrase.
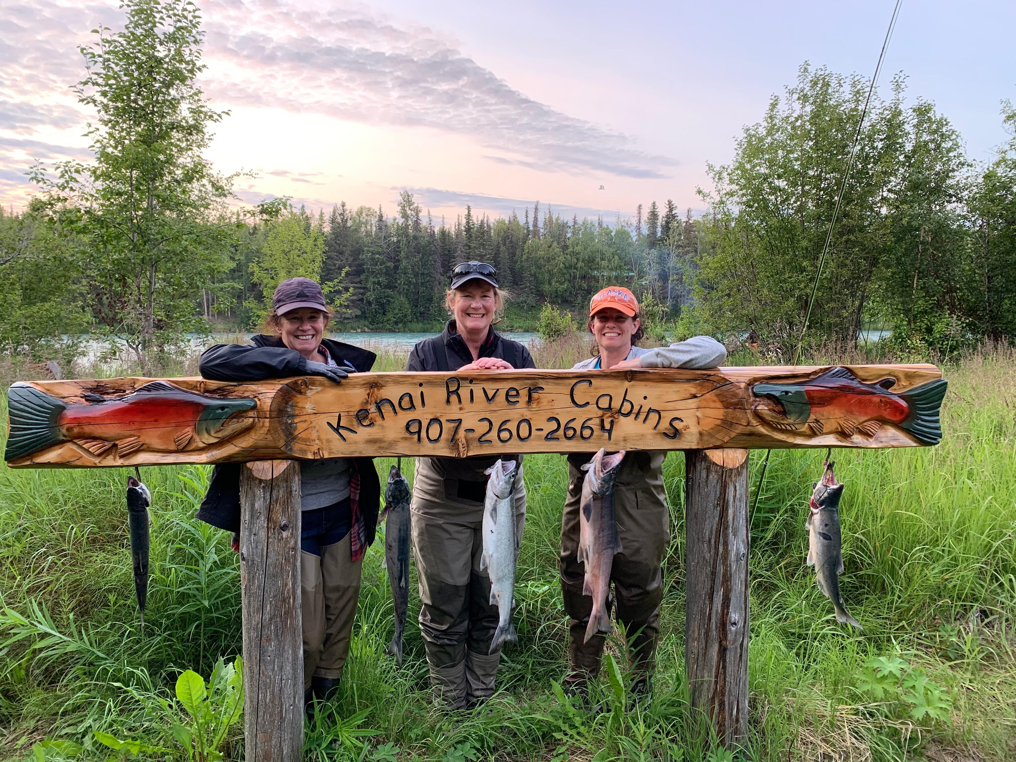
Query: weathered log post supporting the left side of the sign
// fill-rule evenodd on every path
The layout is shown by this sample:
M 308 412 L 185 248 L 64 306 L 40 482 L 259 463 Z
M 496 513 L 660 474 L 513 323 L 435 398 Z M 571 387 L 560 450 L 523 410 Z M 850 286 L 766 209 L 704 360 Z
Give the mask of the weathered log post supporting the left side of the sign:
M 300 464 L 241 469 L 240 569 L 247 762 L 300 762 L 304 652 L 300 617 Z

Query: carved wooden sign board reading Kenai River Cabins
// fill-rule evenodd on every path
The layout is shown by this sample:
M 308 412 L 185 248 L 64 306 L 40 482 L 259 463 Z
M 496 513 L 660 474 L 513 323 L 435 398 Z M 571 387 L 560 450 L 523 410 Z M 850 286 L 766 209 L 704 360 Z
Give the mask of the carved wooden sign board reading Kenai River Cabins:
M 931 365 L 17 383 L 13 467 L 936 444 Z

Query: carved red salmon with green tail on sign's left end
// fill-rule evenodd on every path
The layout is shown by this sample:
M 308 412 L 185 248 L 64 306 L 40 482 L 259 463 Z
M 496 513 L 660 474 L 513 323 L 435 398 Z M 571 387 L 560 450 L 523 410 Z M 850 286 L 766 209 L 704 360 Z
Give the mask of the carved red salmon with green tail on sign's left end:
M 113 447 L 121 457 L 141 449 L 183 450 L 191 442 L 214 444 L 249 428 L 254 419 L 237 414 L 256 399 L 210 397 L 165 381 L 152 381 L 122 397 L 86 393 L 84 403 L 65 402 L 19 382 L 7 393 L 10 436 L 6 460 L 16 460 L 60 442 L 74 442 L 96 456 Z M 144 433 L 144 441 L 138 436 Z

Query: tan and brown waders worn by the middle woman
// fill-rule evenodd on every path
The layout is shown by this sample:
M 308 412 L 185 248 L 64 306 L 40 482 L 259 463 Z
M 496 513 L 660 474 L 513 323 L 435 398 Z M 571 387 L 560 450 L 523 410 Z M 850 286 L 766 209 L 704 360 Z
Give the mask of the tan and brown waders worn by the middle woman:
M 431 685 L 447 706 L 462 709 L 494 694 L 500 649 L 491 579 L 480 570 L 487 474 L 496 458 L 417 458 L 410 520 L 420 576 L 420 631 Z M 515 482 L 518 535 L 525 523 L 525 486 Z

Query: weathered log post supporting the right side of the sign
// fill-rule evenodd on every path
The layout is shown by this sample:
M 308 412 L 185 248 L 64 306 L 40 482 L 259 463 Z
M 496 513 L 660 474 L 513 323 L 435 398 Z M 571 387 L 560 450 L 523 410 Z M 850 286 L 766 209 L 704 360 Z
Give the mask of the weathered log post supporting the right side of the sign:
M 685 669 L 726 747 L 748 735 L 748 450 L 689 450 Z

